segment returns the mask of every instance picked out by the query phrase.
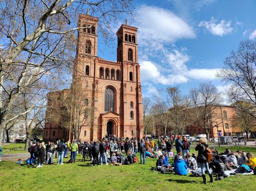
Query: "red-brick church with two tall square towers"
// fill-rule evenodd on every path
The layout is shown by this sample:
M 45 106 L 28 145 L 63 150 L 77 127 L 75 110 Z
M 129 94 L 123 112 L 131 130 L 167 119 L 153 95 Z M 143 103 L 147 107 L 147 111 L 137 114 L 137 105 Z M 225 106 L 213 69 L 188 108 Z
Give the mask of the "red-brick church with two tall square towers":
M 64 98 L 72 92 L 71 112 L 68 117 L 60 117 L 59 121 L 51 119 L 51 113 L 65 110 L 62 103 L 54 104 L 47 109 L 44 128 L 44 141 L 66 139 L 72 141 L 101 140 L 109 134 L 116 137 L 143 137 L 143 104 L 142 86 L 140 83 L 140 66 L 138 63 L 138 28 L 121 25 L 117 31 L 117 61 L 107 61 L 97 56 L 97 25 L 98 18 L 89 14 L 80 14 L 77 22 L 78 38 L 77 53 L 73 71 L 73 81 L 70 89 L 48 94 L 48 105 L 54 102 L 52 95 Z M 85 28 L 86 27 L 86 28 Z M 81 93 L 82 92 L 82 93 Z M 82 95 L 82 96 L 81 96 Z M 81 110 L 83 115 L 77 115 L 78 107 L 75 101 L 83 98 Z M 48 107 L 50 108 L 50 107 Z M 88 112 L 89 111 L 89 112 Z M 63 114 L 62 114 L 63 115 Z M 62 125 L 63 118 L 69 119 L 69 126 Z M 72 131 L 74 119 L 80 128 L 80 135 Z M 77 131 L 78 132 L 78 131 Z M 75 134 L 75 136 L 74 136 Z

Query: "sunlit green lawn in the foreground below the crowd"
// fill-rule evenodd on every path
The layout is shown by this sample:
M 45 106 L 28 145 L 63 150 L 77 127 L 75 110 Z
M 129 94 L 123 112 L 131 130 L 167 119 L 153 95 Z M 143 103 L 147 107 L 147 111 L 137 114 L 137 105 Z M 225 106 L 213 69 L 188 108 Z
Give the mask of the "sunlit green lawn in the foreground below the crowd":
M 229 148 L 256 154 L 255 147 L 233 146 Z M 224 149 L 225 147 L 221 147 L 218 150 L 223 152 Z M 195 151 L 192 148 L 190 152 Z M 139 159 L 139 154 L 137 157 Z M 0 163 L 0 190 L 256 190 L 256 176 L 254 175 L 230 176 L 224 180 L 204 185 L 201 184 L 201 177 L 178 176 L 173 173 L 159 174 L 157 171 L 151 171 L 151 166 L 155 166 L 157 159 L 146 158 L 146 164 L 102 165 L 95 168 L 92 167 L 90 161 L 81 162 L 81 159 L 81 156 L 77 156 L 77 162 L 73 164 L 67 164 L 69 159 L 64 159 L 64 165 L 56 165 L 57 159 L 55 159 L 55 165 L 44 165 L 43 168 L 3 161 Z M 172 163 L 172 160 L 169 160 Z

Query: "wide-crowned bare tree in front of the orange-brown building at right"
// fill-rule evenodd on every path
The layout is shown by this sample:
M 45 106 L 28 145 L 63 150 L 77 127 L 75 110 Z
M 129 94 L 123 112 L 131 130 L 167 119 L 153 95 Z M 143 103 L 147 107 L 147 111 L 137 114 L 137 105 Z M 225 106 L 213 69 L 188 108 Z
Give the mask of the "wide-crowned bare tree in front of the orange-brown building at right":
M 222 123 L 221 114 L 217 112 L 222 96 L 217 92 L 217 88 L 210 82 L 201 83 L 198 88 L 190 89 L 192 108 L 194 113 L 191 120 L 201 127 L 209 139 L 210 130 L 214 125 Z

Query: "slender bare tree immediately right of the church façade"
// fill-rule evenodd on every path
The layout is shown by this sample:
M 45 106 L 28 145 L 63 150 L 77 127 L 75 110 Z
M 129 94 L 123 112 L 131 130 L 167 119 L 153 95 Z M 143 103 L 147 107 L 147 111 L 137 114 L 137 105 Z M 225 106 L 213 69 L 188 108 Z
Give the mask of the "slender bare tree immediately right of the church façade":
M 153 126 L 152 120 L 153 120 L 153 110 L 152 110 L 152 102 L 149 97 L 143 97 L 143 124 L 144 124 L 144 131 L 145 131 L 145 137 L 147 134 L 147 131 L 149 130 L 149 126 Z

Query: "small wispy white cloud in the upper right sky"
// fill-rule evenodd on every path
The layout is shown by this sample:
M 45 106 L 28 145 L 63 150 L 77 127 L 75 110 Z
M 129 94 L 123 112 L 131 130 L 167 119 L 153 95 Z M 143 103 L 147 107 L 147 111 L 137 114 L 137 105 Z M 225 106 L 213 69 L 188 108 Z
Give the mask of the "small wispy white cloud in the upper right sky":
M 221 20 L 220 23 L 216 22 L 216 19 L 212 17 L 210 21 L 201 21 L 198 26 L 205 27 L 205 29 L 213 35 L 219 36 L 226 35 L 233 31 L 233 28 L 231 28 L 231 21 Z

